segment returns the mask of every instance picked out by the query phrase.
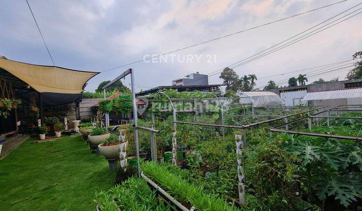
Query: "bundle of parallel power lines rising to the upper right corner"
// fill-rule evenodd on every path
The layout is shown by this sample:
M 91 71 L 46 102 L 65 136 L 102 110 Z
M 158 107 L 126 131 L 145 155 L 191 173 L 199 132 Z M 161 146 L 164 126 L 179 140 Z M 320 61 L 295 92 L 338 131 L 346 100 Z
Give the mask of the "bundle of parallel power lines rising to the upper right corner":
M 360 3 L 360 4 L 362 4 L 362 3 Z M 339 16 L 339 15 L 341 15 L 341 14 L 343 14 L 343 13 L 349 11 L 349 10 L 351 10 L 352 8 L 355 8 L 355 7 L 357 7 L 357 6 L 360 5 L 360 4 L 357 4 L 357 5 L 355 5 L 355 6 L 351 7 L 351 8 L 343 11 L 342 13 L 339 13 L 338 15 L 333 16 L 332 18 L 329 18 L 329 19 L 327 19 L 326 21 L 329 21 L 329 20 L 331 20 L 331 19 L 333 19 L 333 18 L 335 18 L 335 17 L 337 17 L 337 16 Z M 355 10 L 355 11 L 353 11 L 353 12 L 351 12 L 351 13 L 349 13 L 349 14 L 341 17 L 341 18 L 344 18 L 344 17 L 346 17 L 346 16 L 348 16 L 348 15 L 350 15 L 350 14 L 352 14 L 352 13 L 354 13 L 354 12 L 360 10 L 360 9 L 362 9 L 362 8 L 359 8 L 359 9 L 357 9 L 357 10 Z M 318 31 L 318 32 L 315 32 L 315 33 L 313 33 L 313 34 L 311 34 L 311 35 L 309 35 L 309 36 L 307 36 L 307 37 L 302 38 L 303 36 L 305 36 L 305 35 L 303 35 L 302 37 L 300 37 L 300 38 L 302 38 L 302 39 L 297 38 L 297 39 L 291 41 L 292 43 L 290 43 L 290 42 L 289 42 L 290 44 L 287 43 L 288 45 L 284 44 L 283 47 L 282 47 L 282 46 L 279 46 L 278 48 L 276 48 L 276 49 L 274 49 L 274 50 L 268 51 L 267 53 L 264 53 L 264 54 L 262 54 L 262 55 L 260 55 L 260 56 L 258 56 L 258 57 L 256 57 L 256 58 L 250 59 L 250 60 L 248 60 L 248 61 L 246 61 L 246 62 L 244 62 L 244 63 L 242 63 L 242 64 L 249 63 L 249 62 L 251 62 L 251 61 L 253 61 L 253 60 L 256 60 L 256 59 L 261 58 L 261 57 L 263 57 L 263 56 L 266 56 L 266 55 L 268 55 L 268 54 L 271 54 L 271 53 L 274 53 L 274 52 L 276 52 L 276 51 L 279 51 L 279 50 L 281 50 L 281 49 L 283 49 L 283 48 L 286 48 L 286 47 L 288 47 L 288 46 L 290 46 L 290 45 L 293 45 L 293 44 L 295 44 L 295 43 L 297 43 L 297 42 L 300 42 L 300 41 L 302 41 L 302 40 L 304 40 L 304 39 L 306 39 L 306 38 L 308 38 L 308 37 L 310 37 L 310 36 L 313 36 L 313 35 L 321 32 L 321 31 L 324 31 L 324 30 L 332 27 L 332 26 L 335 26 L 335 25 L 337 25 L 337 24 L 339 24 L 339 23 L 341 23 L 341 22 L 343 22 L 343 21 L 346 21 L 347 19 L 350 19 L 350 18 L 352 18 L 352 17 L 354 17 L 354 16 L 356 16 L 356 15 L 358 15 L 358 14 L 360 14 L 360 13 L 361 13 L 361 12 L 359 12 L 359 13 L 357 13 L 357 14 L 354 14 L 353 16 L 350 16 L 350 17 L 348 17 L 348 18 L 346 18 L 346 19 L 344 19 L 344 20 L 342 20 L 342 21 L 340 21 L 340 22 L 337 22 L 337 23 L 335 23 L 335 24 L 333 24 L 333 25 L 331 25 L 331 26 L 329 26 L 329 27 L 327 27 L 327 28 L 325 28 L 325 29 L 322 29 L 322 30 L 320 30 L 320 31 Z M 338 21 L 338 20 L 340 20 L 341 18 L 339 18 L 339 19 L 337 19 L 337 20 L 335 20 L 335 21 Z M 325 23 L 326 21 L 323 21 L 322 23 Z M 333 22 L 335 22 L 335 21 L 333 21 Z M 331 23 L 333 23 L 333 22 L 331 22 Z M 320 23 L 320 24 L 322 24 L 322 23 Z M 329 24 L 331 24 L 331 23 L 329 23 Z M 316 26 L 319 26 L 320 24 L 317 24 Z M 328 26 L 329 24 L 326 24 L 326 25 L 324 25 L 323 27 Z M 316 26 L 314 26 L 314 27 L 316 27 Z M 314 27 L 311 27 L 311 28 L 303 31 L 303 32 L 299 33 L 298 35 L 303 34 L 304 32 L 307 32 L 307 31 L 309 31 L 310 29 L 313 29 Z M 323 27 L 320 27 L 320 28 L 318 28 L 317 30 L 319 30 L 319 29 L 321 29 L 321 28 L 323 28 Z M 314 31 L 316 31 L 316 30 L 314 30 Z M 314 32 L 314 31 L 312 31 L 312 32 Z M 310 33 L 311 33 L 311 32 L 310 32 Z M 310 34 L 310 33 L 308 33 L 308 34 Z M 308 34 L 306 34 L 306 35 L 308 35 Z M 287 39 L 287 40 L 284 40 L 284 41 L 280 42 L 279 44 L 284 43 L 284 42 L 286 42 L 286 41 L 288 41 L 288 40 L 290 40 L 290 39 L 292 39 L 292 38 L 294 38 L 294 37 L 296 37 L 296 36 L 298 36 L 298 35 L 295 35 L 295 36 L 293 36 L 293 37 L 291 37 L 291 38 L 289 38 L 289 39 Z M 300 40 L 298 40 L 298 39 L 300 39 Z M 295 41 L 295 42 L 294 42 L 294 41 Z M 279 45 L 279 44 L 277 44 L 277 45 Z M 274 46 L 272 46 L 272 47 L 270 47 L 270 48 L 276 47 L 277 45 L 274 45 Z M 285 46 L 285 45 L 286 45 L 286 46 Z M 244 61 L 244 60 L 246 60 L 246 59 L 248 59 L 248 58 L 251 58 L 251 57 L 253 57 L 253 56 L 255 56 L 255 55 L 258 55 L 258 54 L 260 54 L 260 53 L 262 53 L 262 52 L 264 52 L 264 51 L 266 51 L 266 50 L 268 50 L 268 49 L 270 49 L 270 48 L 267 48 L 267 49 L 265 49 L 265 50 L 263 50 L 263 51 L 260 51 L 260 52 L 254 54 L 254 55 L 252 55 L 252 56 L 250 56 L 250 57 L 247 57 L 247 58 L 245 58 L 245 59 L 243 59 L 243 60 L 240 60 L 240 61 L 238 61 L 238 62 L 235 62 L 235 63 L 233 63 L 233 64 L 231 64 L 231 65 L 229 65 L 229 66 L 227 66 L 227 67 L 230 67 L 230 68 L 239 67 L 239 66 L 242 65 L 242 64 L 238 64 L 238 63 L 240 63 L 241 61 Z M 216 70 L 216 71 L 214 71 L 214 72 L 211 72 L 211 73 L 209 73 L 209 74 L 208 74 L 207 76 L 205 76 L 205 77 L 200 77 L 200 78 L 197 78 L 197 79 L 188 81 L 188 82 L 186 82 L 186 83 L 191 83 L 191 82 L 193 82 L 193 81 L 201 80 L 201 79 L 203 79 L 203 78 L 216 75 L 216 74 L 218 74 L 218 73 L 219 73 L 220 71 L 222 71 L 222 70 L 224 70 L 224 68 L 219 69 L 219 70 Z

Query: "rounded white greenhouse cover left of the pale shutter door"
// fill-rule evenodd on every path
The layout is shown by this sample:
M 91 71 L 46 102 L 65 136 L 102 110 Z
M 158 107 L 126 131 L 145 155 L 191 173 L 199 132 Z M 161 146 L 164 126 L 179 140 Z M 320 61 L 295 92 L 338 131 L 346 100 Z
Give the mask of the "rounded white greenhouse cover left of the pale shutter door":
M 244 103 L 252 103 L 253 107 L 265 107 L 268 105 L 282 105 L 280 96 L 271 91 L 243 91 L 239 92 L 245 98 Z

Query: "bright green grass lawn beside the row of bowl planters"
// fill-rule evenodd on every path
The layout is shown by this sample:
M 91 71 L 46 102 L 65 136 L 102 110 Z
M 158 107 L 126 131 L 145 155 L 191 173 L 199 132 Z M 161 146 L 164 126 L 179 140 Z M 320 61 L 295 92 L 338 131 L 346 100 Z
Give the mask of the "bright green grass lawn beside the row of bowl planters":
M 108 162 L 81 136 L 32 141 L 0 161 L 1 210 L 95 210 L 95 191 L 114 186 Z

